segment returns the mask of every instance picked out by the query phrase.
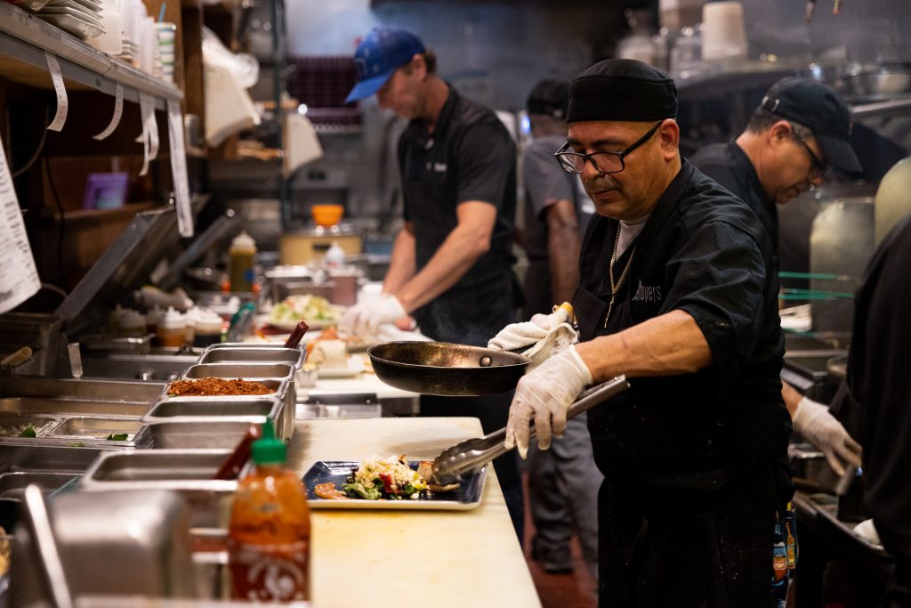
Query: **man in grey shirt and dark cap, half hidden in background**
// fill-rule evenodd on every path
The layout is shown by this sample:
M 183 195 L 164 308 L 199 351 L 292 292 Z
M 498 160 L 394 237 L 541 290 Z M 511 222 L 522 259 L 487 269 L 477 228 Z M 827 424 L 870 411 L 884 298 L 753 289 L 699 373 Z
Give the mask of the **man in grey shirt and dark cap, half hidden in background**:
M 568 102 L 569 83 L 549 78 L 539 81 L 526 101 L 532 139 L 522 155 L 528 255 L 524 313 L 535 315 L 541 334 L 549 333 L 555 317 L 566 314 L 554 313 L 553 306 L 572 301 L 582 234 L 591 217 L 587 208 L 593 211 L 578 175 L 554 162 L 554 151 L 566 142 Z M 498 336 L 502 339 L 502 332 Z M 494 342 L 496 347 L 496 338 Z M 535 524 L 532 557 L 546 572 L 572 572 L 569 541 L 575 532 L 597 581 L 601 474 L 592 459 L 585 414 L 568 421 L 562 440 L 551 449 L 532 446 L 527 471 L 528 508 Z

